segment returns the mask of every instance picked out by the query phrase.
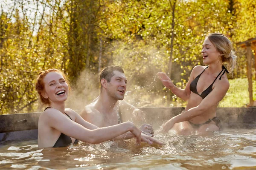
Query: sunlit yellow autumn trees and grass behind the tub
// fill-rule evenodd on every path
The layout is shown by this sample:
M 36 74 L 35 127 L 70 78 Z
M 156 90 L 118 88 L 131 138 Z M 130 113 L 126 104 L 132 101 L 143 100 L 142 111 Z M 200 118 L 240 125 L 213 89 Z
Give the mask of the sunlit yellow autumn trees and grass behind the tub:
M 99 95 L 97 74 L 109 65 L 125 71 L 127 102 L 184 106 L 156 74 L 185 88 L 213 32 L 227 35 L 238 56 L 219 107 L 247 107 L 248 51 L 238 43 L 256 38 L 255 0 L 0 0 L 0 114 L 41 111 L 35 82 L 48 68 L 71 81 L 67 107 L 83 109 Z M 255 48 L 249 55 L 255 89 Z

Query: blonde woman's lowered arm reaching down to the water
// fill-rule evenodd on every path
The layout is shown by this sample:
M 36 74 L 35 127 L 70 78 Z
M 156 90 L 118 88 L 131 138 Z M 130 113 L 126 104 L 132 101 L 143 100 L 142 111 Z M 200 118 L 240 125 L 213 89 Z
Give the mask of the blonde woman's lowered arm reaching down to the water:
M 209 108 L 218 104 L 218 102 L 223 99 L 228 89 L 229 82 L 227 79 L 223 79 L 222 82 L 219 82 L 217 85 L 215 85 L 215 88 L 212 90 L 212 92 L 207 97 L 205 97 L 197 107 L 191 108 L 182 114 L 174 116 L 163 125 L 162 131 L 168 132 L 175 125 L 175 123 L 184 122 L 205 113 Z

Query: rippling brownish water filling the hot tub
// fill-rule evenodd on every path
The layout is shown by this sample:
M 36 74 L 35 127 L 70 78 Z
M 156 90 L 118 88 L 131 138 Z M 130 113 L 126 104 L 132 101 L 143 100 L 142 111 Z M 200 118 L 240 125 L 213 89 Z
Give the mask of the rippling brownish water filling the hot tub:
M 37 140 L 0 142 L 0 169 L 256 169 L 256 130 L 212 136 L 156 135 L 163 146 L 125 142 L 38 149 Z

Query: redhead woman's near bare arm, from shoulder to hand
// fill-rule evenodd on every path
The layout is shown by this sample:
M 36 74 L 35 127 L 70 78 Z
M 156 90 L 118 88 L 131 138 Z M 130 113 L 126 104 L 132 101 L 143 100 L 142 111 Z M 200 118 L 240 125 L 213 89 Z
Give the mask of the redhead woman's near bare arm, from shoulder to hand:
M 124 122 L 119 125 L 97 128 L 89 130 L 84 126 L 70 120 L 58 110 L 47 109 L 44 112 L 44 123 L 67 136 L 79 139 L 84 142 L 98 144 L 111 140 L 123 133 L 130 131 L 137 138 L 137 143 L 141 142 L 140 130 L 132 122 Z

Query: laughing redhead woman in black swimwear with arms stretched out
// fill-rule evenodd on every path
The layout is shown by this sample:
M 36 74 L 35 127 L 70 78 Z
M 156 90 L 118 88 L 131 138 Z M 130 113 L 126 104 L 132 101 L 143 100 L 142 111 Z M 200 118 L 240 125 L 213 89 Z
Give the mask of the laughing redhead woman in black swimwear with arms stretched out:
M 132 122 L 99 128 L 86 122 L 72 109 L 65 109 L 70 85 L 65 75 L 57 69 L 48 69 L 38 75 L 36 91 L 41 102 L 48 107 L 41 113 L 38 121 L 38 147 L 66 147 L 75 139 L 98 144 L 131 132 L 137 143 L 160 142 L 140 133 Z

